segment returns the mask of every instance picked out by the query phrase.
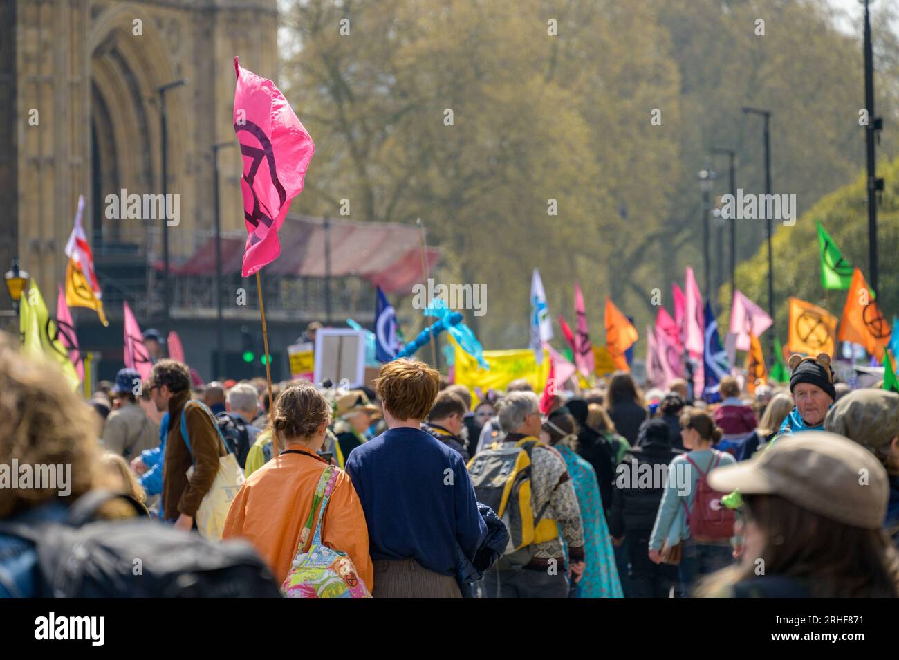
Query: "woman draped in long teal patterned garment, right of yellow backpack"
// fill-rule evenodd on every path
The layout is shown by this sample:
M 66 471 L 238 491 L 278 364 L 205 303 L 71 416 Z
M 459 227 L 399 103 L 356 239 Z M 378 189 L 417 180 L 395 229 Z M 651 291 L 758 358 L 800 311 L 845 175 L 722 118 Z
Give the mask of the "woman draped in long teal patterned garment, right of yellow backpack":
M 602 509 L 600 486 L 596 471 L 572 449 L 577 445 L 577 424 L 565 407 L 549 414 L 543 423 L 540 439 L 552 445 L 565 459 L 568 474 L 574 483 L 574 494 L 581 507 L 583 521 L 584 562 L 581 580 L 575 584 L 575 598 L 624 598 L 615 564 L 606 514 Z M 562 534 L 559 534 L 562 538 Z M 567 557 L 565 548 L 565 557 Z

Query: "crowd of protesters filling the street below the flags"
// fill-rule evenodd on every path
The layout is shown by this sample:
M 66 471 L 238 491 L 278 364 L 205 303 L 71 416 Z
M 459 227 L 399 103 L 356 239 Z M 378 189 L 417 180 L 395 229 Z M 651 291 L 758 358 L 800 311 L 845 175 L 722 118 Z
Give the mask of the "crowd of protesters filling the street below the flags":
M 160 358 L 85 405 L 0 338 L 0 466 L 72 468 L 65 496 L 0 488 L 0 596 L 41 593 L 34 543 L 3 522 L 61 523 L 109 489 L 186 543 L 228 454 L 245 481 L 216 542 L 248 542 L 278 585 L 326 548 L 375 598 L 899 595 L 899 395 L 846 393 L 826 356 L 790 367 L 752 397 L 725 378 L 716 404 L 617 372 L 541 412 L 528 381 L 473 393 L 414 360 L 373 388 L 270 398 L 264 379 L 200 386 Z M 508 492 L 482 501 L 497 457 L 528 466 L 514 506 L 532 520 Z

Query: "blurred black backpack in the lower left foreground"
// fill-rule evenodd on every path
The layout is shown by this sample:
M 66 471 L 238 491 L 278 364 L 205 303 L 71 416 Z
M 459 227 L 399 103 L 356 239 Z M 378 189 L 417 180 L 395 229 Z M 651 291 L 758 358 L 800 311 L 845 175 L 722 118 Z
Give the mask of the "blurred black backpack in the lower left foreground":
M 115 498 L 141 516 L 93 522 Z M 66 522 L 0 521 L 0 533 L 34 544 L 39 598 L 280 597 L 268 566 L 245 541 L 212 543 L 148 520 L 126 495 L 91 491 L 69 507 Z

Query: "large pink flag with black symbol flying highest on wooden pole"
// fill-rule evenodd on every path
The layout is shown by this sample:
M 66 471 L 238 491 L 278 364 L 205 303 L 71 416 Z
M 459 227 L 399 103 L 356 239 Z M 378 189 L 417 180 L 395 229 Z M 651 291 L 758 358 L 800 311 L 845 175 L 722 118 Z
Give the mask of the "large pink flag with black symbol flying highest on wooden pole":
M 271 80 L 256 76 L 234 58 L 234 132 L 244 156 L 246 251 L 241 274 L 249 277 L 280 255 L 278 230 L 303 179 L 316 146 L 284 94 Z

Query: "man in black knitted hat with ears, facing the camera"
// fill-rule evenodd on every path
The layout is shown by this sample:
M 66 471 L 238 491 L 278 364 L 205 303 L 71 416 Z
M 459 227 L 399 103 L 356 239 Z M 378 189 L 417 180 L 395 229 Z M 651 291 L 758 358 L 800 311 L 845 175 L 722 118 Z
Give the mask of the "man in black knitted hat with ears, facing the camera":
M 793 370 L 789 391 L 796 406 L 780 425 L 778 437 L 802 431 L 823 431 L 824 417 L 837 397 L 830 355 L 818 353 L 814 358 L 804 358 L 794 354 L 790 356 L 789 366 Z

